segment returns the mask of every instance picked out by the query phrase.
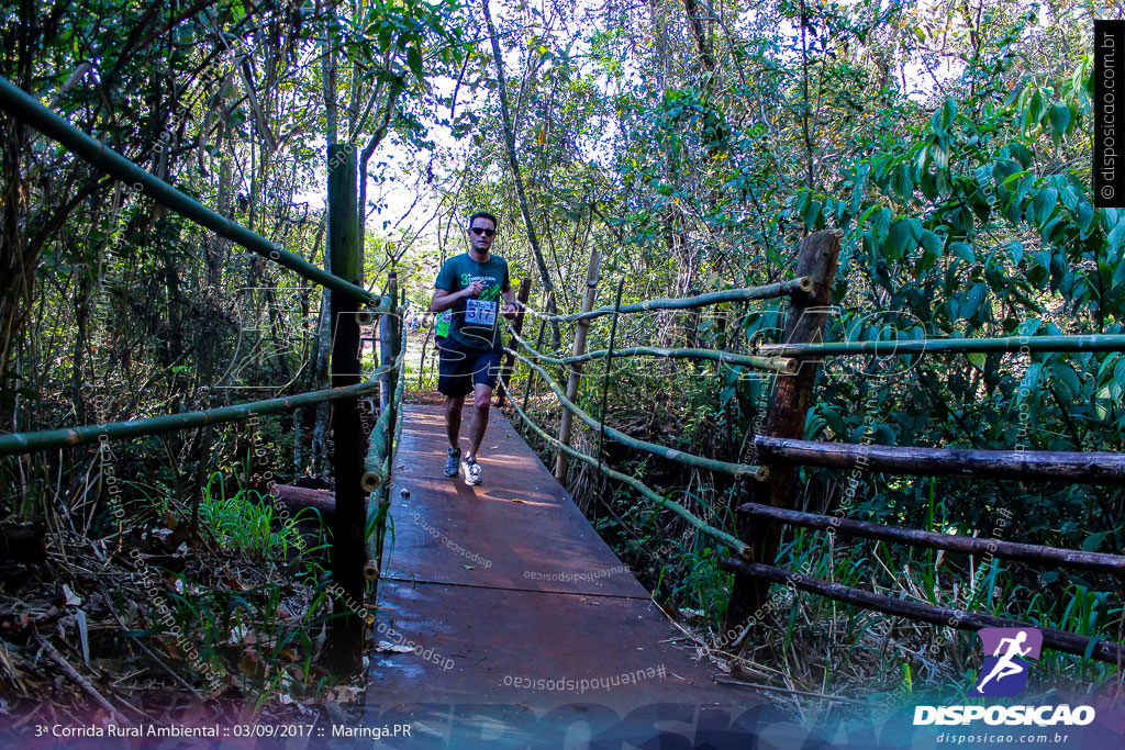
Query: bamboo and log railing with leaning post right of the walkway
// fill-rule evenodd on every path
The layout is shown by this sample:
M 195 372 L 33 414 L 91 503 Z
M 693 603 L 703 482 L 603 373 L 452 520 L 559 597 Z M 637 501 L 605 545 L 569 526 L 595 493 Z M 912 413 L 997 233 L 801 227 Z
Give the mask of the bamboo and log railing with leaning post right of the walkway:
M 807 238 L 808 241 L 808 238 Z M 837 244 L 838 247 L 838 244 Z M 808 253 L 807 253 L 808 251 Z M 732 600 L 729 611 L 736 609 L 736 600 L 739 598 L 738 581 L 760 580 L 774 584 L 784 584 L 798 589 L 810 591 L 819 596 L 831 598 L 838 602 L 853 604 L 867 609 L 902 616 L 918 622 L 927 622 L 937 625 L 952 625 L 961 630 L 979 630 L 992 626 L 1030 626 L 1026 623 L 997 617 L 981 613 L 963 613 L 960 611 L 939 607 L 929 603 L 910 602 L 894 597 L 864 591 L 839 584 L 819 580 L 800 573 L 795 573 L 773 564 L 767 564 L 764 555 L 772 560 L 776 549 L 776 526 L 777 524 L 790 524 L 809 528 L 827 530 L 844 536 L 860 536 L 875 539 L 884 542 L 902 543 L 914 546 L 939 549 L 948 552 L 960 552 L 975 555 L 992 555 L 996 558 L 1014 560 L 1024 563 L 1053 566 L 1059 568 L 1076 568 L 1094 572 L 1099 572 L 1116 577 L 1125 587 L 1125 557 L 1114 554 L 1100 554 L 1092 552 L 1081 552 L 1077 550 L 1063 550 L 1056 548 L 1045 548 L 1033 544 L 1022 544 L 1018 542 L 1005 542 L 998 540 L 982 540 L 961 536 L 956 534 L 938 534 L 914 528 L 899 528 L 883 526 L 879 524 L 820 516 L 813 514 L 799 513 L 783 507 L 782 504 L 789 501 L 788 484 L 781 487 L 775 486 L 771 475 L 771 467 L 788 470 L 794 466 L 811 466 L 825 468 L 854 468 L 856 462 L 873 471 L 885 471 L 892 473 L 920 475 L 920 476 L 953 476 L 974 479 L 1010 479 L 1020 481 L 1064 481 L 1092 485 L 1123 485 L 1125 484 L 1125 455 L 1110 452 L 1052 452 L 1052 451 L 980 451 L 966 449 L 934 449 L 914 446 L 883 446 L 883 445 L 854 445 L 839 443 L 824 443 L 814 441 L 803 441 L 783 434 L 783 427 L 778 419 L 788 422 L 784 430 L 794 431 L 798 426 L 803 426 L 804 413 L 808 408 L 809 394 L 811 392 L 814 370 L 812 368 L 802 369 L 802 363 L 809 362 L 814 365 L 819 358 L 824 356 L 849 356 L 849 355 L 893 355 L 893 354 L 970 354 L 970 353 L 1022 353 L 1032 352 L 1119 352 L 1125 351 L 1125 335 L 1047 335 L 1047 336 L 1010 336 L 1006 338 L 930 338 L 930 340 L 908 340 L 908 341 L 861 341 L 861 342 L 829 342 L 817 341 L 821 335 L 820 328 L 824 326 L 824 318 L 809 324 L 809 316 L 803 314 L 806 307 L 813 299 L 813 289 L 817 286 L 813 279 L 821 279 L 824 284 L 831 275 L 826 273 L 826 269 L 835 269 L 835 261 L 830 249 L 826 249 L 824 243 L 817 246 L 816 242 L 802 244 L 802 253 L 808 257 L 802 257 L 799 269 L 810 269 L 808 275 L 801 275 L 790 282 L 770 284 L 744 290 L 723 290 L 710 295 L 699 295 L 682 299 L 659 299 L 634 302 L 630 305 L 618 305 L 590 309 L 586 313 L 570 315 L 544 315 L 530 307 L 526 310 L 540 318 L 543 323 L 566 323 L 579 322 L 588 324 L 590 320 L 613 316 L 615 323 L 618 316 L 628 313 L 639 313 L 655 309 L 691 309 L 703 305 L 729 302 L 735 300 L 767 299 L 790 295 L 794 298 L 794 309 L 802 313 L 799 324 L 806 329 L 798 328 L 786 332 L 789 343 L 785 344 L 762 344 L 753 350 L 753 354 L 731 353 L 726 351 L 714 351 L 693 347 L 657 347 L 657 346 L 629 346 L 614 347 L 611 344 L 606 350 L 585 352 L 584 347 L 576 346 L 575 353 L 569 356 L 547 354 L 539 351 L 542 344 L 543 326 L 540 327 L 539 337 L 534 346 L 522 337 L 520 333 L 512 333 L 511 346 L 505 349 L 510 360 L 523 364 L 528 370 L 528 385 L 536 380 L 542 380 L 555 397 L 555 400 L 562 408 L 565 415 L 573 415 L 585 425 L 598 434 L 614 440 L 622 445 L 633 450 L 650 453 L 665 460 L 675 461 L 695 469 L 734 475 L 739 478 L 768 479 L 770 481 L 755 486 L 771 498 L 772 503 L 763 505 L 759 503 L 741 503 L 734 509 L 740 523 L 738 533 L 716 528 L 704 523 L 694 514 L 688 512 L 683 505 L 666 498 L 646 486 L 634 477 L 623 475 L 604 466 L 598 457 L 583 453 L 568 444 L 569 431 L 555 437 L 547 433 L 541 426 L 528 415 L 528 399 L 530 390 L 524 394 L 523 407 L 511 399 L 512 409 L 528 425 L 528 427 L 544 440 L 549 445 L 559 449 L 560 455 L 575 458 L 588 466 L 596 467 L 602 473 L 620 481 L 639 491 L 644 497 L 658 504 L 659 507 L 667 508 L 682 517 L 700 533 L 710 536 L 719 544 L 729 546 L 738 557 L 724 558 L 721 567 L 724 570 L 736 573 L 736 590 L 732 593 Z M 801 264 L 803 263 L 803 265 Z M 824 284 L 827 286 L 827 284 Z M 821 287 L 822 289 L 824 287 Z M 798 305 L 800 299 L 800 305 Z M 592 305 L 587 305 L 592 307 Z M 818 308 L 819 309 L 819 308 Z M 820 326 L 820 328 L 818 328 Z M 615 326 L 614 326 L 615 327 Z M 519 351 L 518 351 L 519 350 Z M 578 368 L 584 362 L 606 360 L 610 358 L 668 358 L 686 359 L 693 361 L 709 361 L 729 364 L 732 367 L 754 368 L 772 371 L 776 373 L 778 383 L 774 392 L 774 408 L 771 416 L 771 426 L 766 434 L 754 436 L 754 445 L 760 457 L 762 466 L 741 464 L 719 461 L 717 459 L 702 455 L 693 455 L 665 445 L 651 443 L 627 435 L 620 430 L 615 430 L 604 422 L 604 404 L 602 418 L 595 418 L 575 404 L 573 398 L 564 392 L 560 383 L 556 382 L 550 372 L 543 368 L 542 363 L 570 365 Z M 608 368 L 606 368 L 608 371 Z M 801 372 L 804 386 L 796 385 L 794 389 L 794 373 Z M 606 381 L 608 382 L 608 381 Z M 785 387 L 782 388 L 781 385 Z M 801 388 L 806 389 L 801 394 Z M 778 390 L 785 395 L 780 396 Z M 604 391 L 603 391 L 604 398 Z M 778 417 L 778 399 L 791 399 L 782 409 L 782 417 Z M 803 406 L 802 406 L 803 404 Z M 770 434 L 773 431 L 773 434 Z M 565 466 L 565 464 L 564 464 Z M 790 473 L 790 476 L 792 476 Z M 757 518 L 765 523 L 750 524 L 748 519 Z M 741 596 L 747 595 L 744 584 Z M 760 596 L 760 588 L 758 589 Z M 742 611 L 746 611 L 745 600 Z M 728 621 L 730 622 L 730 621 Z M 1066 653 L 1088 656 L 1095 660 L 1108 663 L 1122 663 L 1125 660 L 1125 645 L 1114 643 L 1098 638 L 1088 638 L 1080 634 L 1066 633 L 1051 629 L 1040 629 L 1044 635 L 1044 644 Z

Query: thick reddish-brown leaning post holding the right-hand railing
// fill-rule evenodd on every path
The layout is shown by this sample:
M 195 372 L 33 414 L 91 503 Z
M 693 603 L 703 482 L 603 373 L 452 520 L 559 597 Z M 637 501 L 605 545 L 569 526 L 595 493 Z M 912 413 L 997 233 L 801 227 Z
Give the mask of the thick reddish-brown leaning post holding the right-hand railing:
M 840 235 L 834 231 L 816 232 L 801 242 L 796 259 L 796 277 L 812 278 L 812 291 L 794 291 L 791 297 L 789 319 L 785 323 L 786 343 L 810 343 L 822 340 L 827 307 L 832 300 L 836 286 L 836 261 L 840 251 Z M 812 400 L 812 386 L 817 378 L 819 361 L 811 356 L 795 358 L 799 363 L 796 374 L 778 374 L 774 380 L 773 404 L 765 434 L 775 437 L 803 437 L 804 418 Z M 763 505 L 789 508 L 793 496 L 795 469 L 783 463 L 770 463 L 770 481 L 752 488 L 755 500 Z M 760 499 L 758 499 L 760 498 Z M 754 561 L 773 564 L 777 554 L 778 531 L 776 526 L 753 524 L 736 514 L 738 537 L 747 541 L 754 550 Z M 750 617 L 765 603 L 768 582 L 736 573 L 727 607 L 726 631 L 741 631 Z

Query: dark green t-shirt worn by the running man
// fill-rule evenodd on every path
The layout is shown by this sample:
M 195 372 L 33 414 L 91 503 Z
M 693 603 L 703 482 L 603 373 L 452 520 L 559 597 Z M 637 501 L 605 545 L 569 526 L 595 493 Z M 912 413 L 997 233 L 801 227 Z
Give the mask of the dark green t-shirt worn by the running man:
M 453 293 L 477 279 L 485 282 L 485 288 L 476 297 L 459 299 L 452 307 L 448 337 L 469 349 L 500 349 L 501 292 L 511 289 L 507 261 L 489 255 L 482 263 L 468 253 L 454 255 L 441 266 L 433 286 Z

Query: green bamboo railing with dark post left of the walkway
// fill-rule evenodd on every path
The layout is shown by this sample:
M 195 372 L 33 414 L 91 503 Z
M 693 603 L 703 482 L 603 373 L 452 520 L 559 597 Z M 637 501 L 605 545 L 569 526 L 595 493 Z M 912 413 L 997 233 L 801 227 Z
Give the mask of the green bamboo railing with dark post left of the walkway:
M 16 433 L 0 436 L 0 455 L 29 453 L 52 448 L 74 446 L 109 440 L 162 434 L 204 425 L 246 419 L 260 414 L 276 414 L 287 409 L 324 401 L 333 403 L 333 468 L 336 479 L 335 513 L 333 516 L 332 573 L 334 578 L 334 617 L 328 638 L 327 654 L 333 666 L 342 672 L 354 672 L 361 665 L 363 650 L 363 621 L 349 602 L 363 600 L 367 544 L 364 531 L 370 514 L 362 488 L 369 485 L 364 472 L 360 398 L 379 388 L 378 376 L 386 374 L 392 382 L 402 381 L 402 351 L 395 352 L 392 362 L 384 362 L 372 379 L 360 382 L 359 326 L 370 322 L 375 314 L 389 315 L 397 322 L 397 286 L 392 272 L 389 293 L 377 296 L 362 284 L 363 259 L 360 237 L 360 213 L 357 204 L 356 150 L 350 144 L 328 144 L 328 251 L 331 273 L 291 253 L 250 229 L 223 217 L 168 182 L 148 173 L 104 143 L 82 133 L 62 117 L 44 107 L 33 96 L 0 76 L 0 110 L 14 119 L 29 125 L 44 135 L 66 146 L 79 157 L 106 174 L 124 181 L 133 190 L 182 216 L 189 222 L 210 229 L 231 242 L 287 268 L 302 278 L 335 292 L 331 296 L 332 382 L 333 388 L 295 394 L 272 399 L 248 401 L 235 406 L 204 409 L 186 414 L 169 414 L 145 419 L 114 424 L 86 425 L 61 430 Z M 393 328 L 395 327 L 393 323 Z M 402 398 L 402 388 L 392 388 L 394 398 Z M 397 404 L 385 405 L 389 430 L 376 431 L 377 446 L 367 452 L 368 459 L 381 467 L 380 482 L 389 479 L 390 466 L 402 426 L 396 415 Z M 382 460 L 379 461 L 380 455 Z M 379 530 L 381 539 L 381 530 Z

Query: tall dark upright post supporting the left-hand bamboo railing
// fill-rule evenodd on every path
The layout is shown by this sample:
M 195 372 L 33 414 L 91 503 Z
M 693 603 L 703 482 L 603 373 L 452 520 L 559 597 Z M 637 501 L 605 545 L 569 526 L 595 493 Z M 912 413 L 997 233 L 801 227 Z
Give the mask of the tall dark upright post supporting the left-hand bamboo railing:
M 332 272 L 354 284 L 363 282 L 363 250 L 356 204 L 356 147 L 328 146 L 328 252 Z M 352 295 L 332 292 L 332 386 L 360 381 L 359 322 L 362 302 Z M 363 563 L 367 521 L 360 477 L 364 441 L 358 398 L 332 401 L 332 466 L 335 479 L 335 517 L 332 523 L 333 620 L 328 632 L 327 660 L 339 675 L 359 670 L 363 651 L 362 613 L 353 603 L 363 602 Z

